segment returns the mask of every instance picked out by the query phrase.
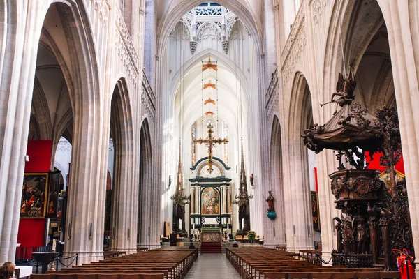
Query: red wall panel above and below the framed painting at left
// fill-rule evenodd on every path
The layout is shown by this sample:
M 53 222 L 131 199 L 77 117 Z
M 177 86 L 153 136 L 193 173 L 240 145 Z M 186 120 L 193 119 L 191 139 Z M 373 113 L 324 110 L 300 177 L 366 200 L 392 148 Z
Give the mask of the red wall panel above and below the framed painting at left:
M 49 172 L 51 165 L 52 140 L 28 140 L 24 172 Z M 21 247 L 44 246 L 45 219 L 20 218 L 17 243 Z

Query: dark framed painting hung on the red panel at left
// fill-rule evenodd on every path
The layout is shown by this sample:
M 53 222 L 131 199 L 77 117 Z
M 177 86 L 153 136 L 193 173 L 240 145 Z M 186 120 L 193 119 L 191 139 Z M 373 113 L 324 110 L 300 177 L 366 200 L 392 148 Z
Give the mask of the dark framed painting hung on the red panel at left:
M 47 212 L 45 193 L 48 193 L 48 177 L 45 173 L 27 173 L 23 176 L 21 218 L 45 218 Z

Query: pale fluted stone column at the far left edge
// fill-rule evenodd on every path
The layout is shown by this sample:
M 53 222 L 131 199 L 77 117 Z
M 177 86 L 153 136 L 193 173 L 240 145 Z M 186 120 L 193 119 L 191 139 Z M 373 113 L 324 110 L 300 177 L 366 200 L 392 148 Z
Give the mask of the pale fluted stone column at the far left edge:
M 39 15 L 45 12 L 38 1 L 8 2 L 0 3 L 0 264 L 15 261 Z

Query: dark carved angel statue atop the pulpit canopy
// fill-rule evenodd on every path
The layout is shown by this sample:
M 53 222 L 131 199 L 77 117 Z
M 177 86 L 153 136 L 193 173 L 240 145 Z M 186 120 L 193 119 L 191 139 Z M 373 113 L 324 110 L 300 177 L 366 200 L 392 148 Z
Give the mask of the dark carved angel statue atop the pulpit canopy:
M 356 88 L 354 77 L 352 66 L 349 66 L 348 77 L 345 78 L 344 75 L 339 73 L 337 77 L 336 92 L 332 94 L 332 100 L 330 100 L 331 103 L 337 103 L 341 107 L 352 103 L 353 99 L 355 99 L 353 92 Z M 334 99 L 335 96 L 340 97 Z

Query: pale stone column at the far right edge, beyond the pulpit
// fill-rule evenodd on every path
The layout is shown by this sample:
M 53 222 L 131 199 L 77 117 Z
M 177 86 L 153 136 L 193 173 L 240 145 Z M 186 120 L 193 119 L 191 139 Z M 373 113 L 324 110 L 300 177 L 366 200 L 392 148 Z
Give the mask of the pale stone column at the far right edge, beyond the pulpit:
M 378 0 L 385 25 L 392 64 L 406 188 L 413 234 L 413 246 L 419 251 L 419 30 L 416 13 L 418 1 Z M 416 257 L 419 263 L 419 257 Z M 416 270 L 419 265 L 416 264 Z

